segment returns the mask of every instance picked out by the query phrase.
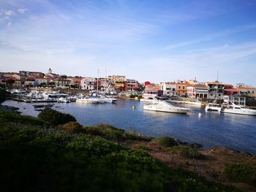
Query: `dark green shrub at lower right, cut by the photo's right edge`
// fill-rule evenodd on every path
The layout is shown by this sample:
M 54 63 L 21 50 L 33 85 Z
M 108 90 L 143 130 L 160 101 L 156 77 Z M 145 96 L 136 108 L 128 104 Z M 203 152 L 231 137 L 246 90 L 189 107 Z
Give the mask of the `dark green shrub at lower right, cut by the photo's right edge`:
M 223 174 L 230 180 L 256 185 L 256 165 L 227 164 Z

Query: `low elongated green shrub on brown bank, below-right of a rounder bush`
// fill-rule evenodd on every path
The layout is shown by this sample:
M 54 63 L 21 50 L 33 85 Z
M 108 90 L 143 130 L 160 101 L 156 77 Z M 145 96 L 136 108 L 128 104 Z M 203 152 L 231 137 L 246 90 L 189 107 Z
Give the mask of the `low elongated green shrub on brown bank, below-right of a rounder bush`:
M 170 151 L 172 153 L 178 153 L 179 155 L 185 157 L 185 158 L 203 158 L 203 155 L 199 153 L 195 148 L 189 147 L 189 146 L 173 146 L 173 147 L 167 147 L 167 151 Z

